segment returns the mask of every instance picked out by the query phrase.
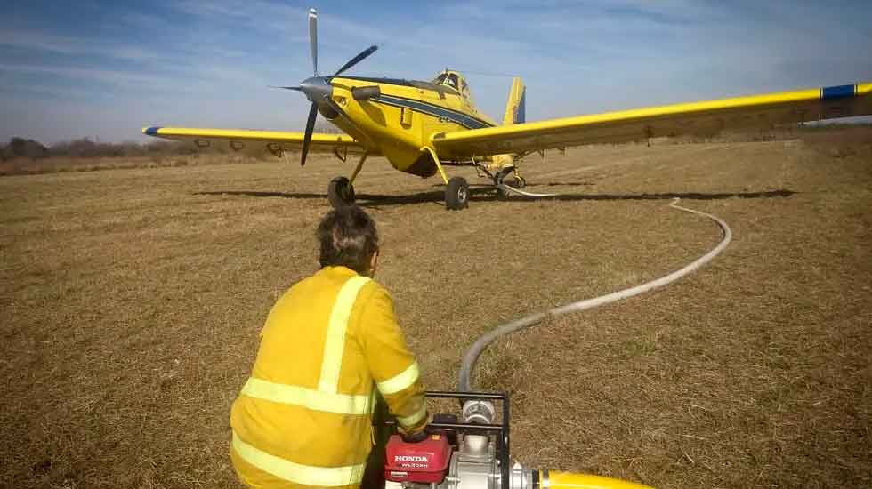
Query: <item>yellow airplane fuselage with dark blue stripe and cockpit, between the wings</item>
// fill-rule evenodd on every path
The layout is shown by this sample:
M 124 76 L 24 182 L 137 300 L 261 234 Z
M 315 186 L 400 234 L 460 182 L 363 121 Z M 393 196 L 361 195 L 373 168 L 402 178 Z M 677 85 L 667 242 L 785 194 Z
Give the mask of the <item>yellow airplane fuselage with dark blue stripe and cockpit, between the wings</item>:
M 443 83 L 437 83 L 448 75 L 455 77 L 442 78 Z M 435 174 L 436 166 L 430 154 L 422 149 L 431 145 L 432 134 L 497 125 L 475 108 L 462 76 L 445 72 L 440 78 L 421 82 L 338 76 L 329 81 L 333 86 L 332 99 L 353 124 L 326 104 L 319 104 L 319 110 L 370 151 L 387 158 L 400 172 L 429 177 Z M 443 163 L 456 161 L 451 154 L 439 157 Z

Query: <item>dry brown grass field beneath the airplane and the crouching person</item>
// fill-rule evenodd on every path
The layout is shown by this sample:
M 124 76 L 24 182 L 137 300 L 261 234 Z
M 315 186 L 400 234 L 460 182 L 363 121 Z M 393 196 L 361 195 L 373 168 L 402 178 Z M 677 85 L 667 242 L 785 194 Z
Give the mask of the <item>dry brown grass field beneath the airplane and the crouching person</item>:
M 872 146 L 626 145 L 525 168 L 551 200 L 374 160 L 359 201 L 427 386 L 495 325 L 665 275 L 488 349 L 526 466 L 669 487 L 872 486 Z M 841 146 L 839 146 L 841 145 Z M 850 150 L 843 150 L 844 148 Z M 317 267 L 326 157 L 0 179 L 0 485 L 236 487 L 230 404 L 273 301 Z M 455 170 L 477 180 L 470 170 Z

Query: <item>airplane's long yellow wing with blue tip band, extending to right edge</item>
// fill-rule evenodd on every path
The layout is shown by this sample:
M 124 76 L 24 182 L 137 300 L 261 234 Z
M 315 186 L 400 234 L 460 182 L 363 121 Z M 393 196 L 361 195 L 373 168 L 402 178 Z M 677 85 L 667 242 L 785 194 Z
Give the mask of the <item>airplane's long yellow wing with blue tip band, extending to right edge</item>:
M 440 132 L 432 144 L 440 157 L 464 159 L 870 114 L 872 83 L 848 84 Z

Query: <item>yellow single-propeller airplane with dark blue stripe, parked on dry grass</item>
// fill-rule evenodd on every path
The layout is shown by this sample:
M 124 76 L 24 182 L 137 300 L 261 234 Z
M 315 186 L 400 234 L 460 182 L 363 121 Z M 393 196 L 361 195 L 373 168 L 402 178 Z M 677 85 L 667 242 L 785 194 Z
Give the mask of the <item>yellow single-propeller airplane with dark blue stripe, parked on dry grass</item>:
M 457 210 L 468 204 L 468 184 L 463 177 L 448 179 L 448 165 L 474 166 L 497 188 L 505 183 L 521 188 L 526 182 L 516 163 L 545 149 L 872 114 L 872 83 L 861 83 L 527 122 L 526 89 L 515 77 L 503 124 L 497 124 L 475 108 L 469 85 L 456 71 L 445 70 L 429 82 L 342 76 L 375 52 L 374 45 L 333 75 L 320 76 L 315 9 L 309 11 L 309 37 L 314 76 L 299 86 L 278 87 L 303 92 L 311 100 L 305 132 L 154 126 L 142 132 L 193 140 L 199 147 L 215 140 L 234 149 L 263 145 L 279 157 L 299 149 L 301 164 L 310 150 L 332 152 L 343 162 L 350 154 L 359 155 L 350 178 L 330 182 L 327 197 L 335 207 L 354 202 L 353 183 L 367 156 L 384 156 L 400 172 L 424 178 L 438 173 L 446 185 L 446 207 Z M 319 112 L 345 134 L 314 133 Z

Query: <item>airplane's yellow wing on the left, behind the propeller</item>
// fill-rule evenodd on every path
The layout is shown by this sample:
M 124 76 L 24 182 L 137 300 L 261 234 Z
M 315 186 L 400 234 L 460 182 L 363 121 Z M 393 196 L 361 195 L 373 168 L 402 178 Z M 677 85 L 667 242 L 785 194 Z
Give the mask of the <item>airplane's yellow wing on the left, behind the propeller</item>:
M 261 145 L 279 156 L 283 151 L 303 147 L 303 132 L 251 131 L 247 129 L 206 129 L 192 127 L 145 127 L 142 133 L 166 140 L 190 140 L 199 147 L 224 141 L 230 148 L 241 149 L 247 145 Z M 362 154 L 364 147 L 347 134 L 312 134 L 310 151 Z

